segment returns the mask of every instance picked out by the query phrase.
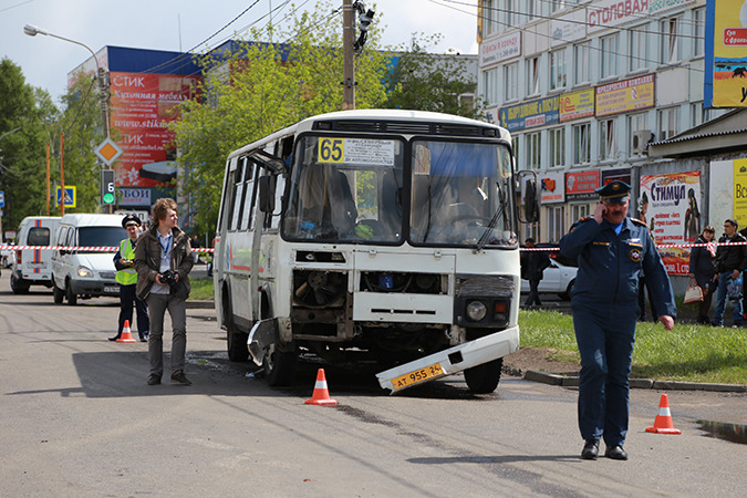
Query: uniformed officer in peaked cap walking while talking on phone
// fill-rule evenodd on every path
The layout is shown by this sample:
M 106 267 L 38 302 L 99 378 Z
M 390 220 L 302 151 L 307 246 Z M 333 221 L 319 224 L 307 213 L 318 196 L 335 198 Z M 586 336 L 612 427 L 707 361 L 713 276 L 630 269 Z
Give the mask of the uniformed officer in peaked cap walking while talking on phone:
M 664 263 L 645 224 L 627 217 L 631 187 L 614 180 L 598 188 L 593 216 L 580 219 L 560 240 L 560 250 L 578 258 L 571 307 L 581 355 L 578 418 L 584 439 L 581 458 L 626 460 L 629 377 L 639 317 L 639 278 L 660 310 L 666 330 L 674 328 L 674 293 Z

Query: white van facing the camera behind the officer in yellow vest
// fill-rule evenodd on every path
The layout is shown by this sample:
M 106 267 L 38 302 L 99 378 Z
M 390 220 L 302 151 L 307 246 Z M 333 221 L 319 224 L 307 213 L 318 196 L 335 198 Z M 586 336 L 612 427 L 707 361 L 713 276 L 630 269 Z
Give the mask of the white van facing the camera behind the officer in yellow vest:
M 114 277 L 114 253 L 127 232 L 121 215 L 65 215 L 60 220 L 55 245 L 75 248 L 110 248 L 106 251 L 56 249 L 52 253 L 54 302 L 75 305 L 77 298 L 120 295 Z

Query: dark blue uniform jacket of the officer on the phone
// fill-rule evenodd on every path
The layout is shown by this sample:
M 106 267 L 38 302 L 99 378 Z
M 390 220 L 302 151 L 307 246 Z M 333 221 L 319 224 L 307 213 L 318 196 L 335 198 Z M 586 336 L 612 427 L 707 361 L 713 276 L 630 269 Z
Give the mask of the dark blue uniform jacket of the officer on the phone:
M 592 217 L 582 218 L 560 240 L 560 252 L 579 262 L 573 302 L 635 304 L 645 273 L 654 308 L 660 314 L 676 317 L 670 278 L 643 222 L 625 218 L 616 235 L 606 220 L 598 224 Z

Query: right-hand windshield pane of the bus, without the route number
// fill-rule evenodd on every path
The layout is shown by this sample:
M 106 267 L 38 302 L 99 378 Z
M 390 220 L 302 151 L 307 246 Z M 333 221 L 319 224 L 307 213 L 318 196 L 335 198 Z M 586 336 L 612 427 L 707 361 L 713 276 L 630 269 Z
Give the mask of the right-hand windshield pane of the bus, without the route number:
M 501 144 L 414 141 L 409 240 L 515 246 L 512 163 Z

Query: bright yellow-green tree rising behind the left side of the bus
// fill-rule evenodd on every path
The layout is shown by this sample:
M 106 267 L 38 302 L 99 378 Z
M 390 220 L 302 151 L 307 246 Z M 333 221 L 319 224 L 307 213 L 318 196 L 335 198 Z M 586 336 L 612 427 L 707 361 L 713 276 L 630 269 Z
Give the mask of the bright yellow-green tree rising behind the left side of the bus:
M 228 154 L 311 115 L 342 108 L 342 23 L 332 9 L 294 13 L 292 28 L 253 30 L 253 42 L 239 41 L 230 53 L 204 55 L 201 98 L 186 102 L 176 133 L 181 170 L 189 170 L 197 231 L 215 229 Z M 324 14 L 320 13 L 324 12 Z M 284 43 L 270 43 L 282 39 Z M 264 42 L 262 42 L 262 40 Z M 385 100 L 384 55 L 371 30 L 366 51 L 356 59 L 356 105 Z

